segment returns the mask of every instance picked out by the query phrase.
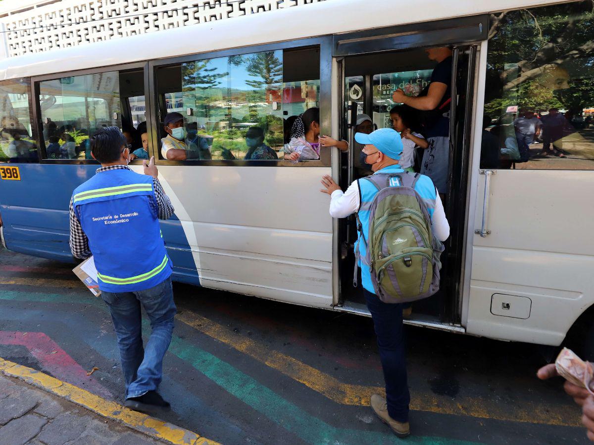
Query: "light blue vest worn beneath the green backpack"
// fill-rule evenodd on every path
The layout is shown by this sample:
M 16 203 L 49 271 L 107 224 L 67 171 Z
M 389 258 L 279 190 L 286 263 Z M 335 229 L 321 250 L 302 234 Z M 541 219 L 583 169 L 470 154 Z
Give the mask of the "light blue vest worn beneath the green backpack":
M 388 173 L 388 174 L 414 174 L 414 173 L 407 173 L 405 172 L 400 166 L 388 166 L 384 167 L 381 170 L 376 171 L 374 174 L 379 173 Z M 399 180 L 397 177 L 391 179 L 391 186 L 397 187 L 400 185 Z M 427 210 L 429 212 L 429 217 L 433 218 L 433 212 L 435 210 L 435 200 L 437 198 L 437 192 L 435 190 L 435 186 L 431 178 L 428 176 L 420 175 L 419 179 L 415 184 L 415 190 L 419 193 L 419 196 L 425 202 L 427 206 Z M 375 198 L 375 195 L 378 193 L 378 189 L 371 183 L 371 181 L 366 180 L 365 178 L 359 179 L 359 191 L 361 193 L 361 205 L 359 205 L 359 220 L 361 221 L 361 231 L 359 231 L 359 238 L 355 243 L 355 253 L 357 249 L 359 249 L 359 267 L 361 268 L 361 284 L 365 288 L 365 290 L 375 294 L 375 290 L 373 288 L 373 284 L 371 282 L 371 274 L 369 272 L 369 265 L 364 263 L 365 261 L 365 243 L 361 241 L 361 232 L 362 236 L 365 237 L 365 240 L 369 239 L 369 209 L 371 207 L 371 202 Z

